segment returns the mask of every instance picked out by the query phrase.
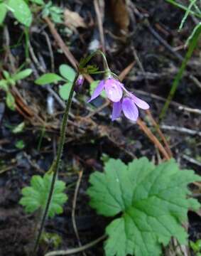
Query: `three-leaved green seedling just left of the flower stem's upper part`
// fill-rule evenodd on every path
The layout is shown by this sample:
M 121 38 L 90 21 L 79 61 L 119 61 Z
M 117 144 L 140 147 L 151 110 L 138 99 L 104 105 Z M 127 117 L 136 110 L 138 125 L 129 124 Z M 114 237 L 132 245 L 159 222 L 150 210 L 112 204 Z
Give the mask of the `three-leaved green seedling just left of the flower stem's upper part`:
M 64 82 L 60 86 L 59 95 L 63 100 L 67 100 L 70 95 L 70 90 L 72 88 L 72 83 L 75 80 L 75 70 L 72 69 L 69 65 L 62 64 L 59 68 L 60 75 L 55 73 L 46 73 L 41 75 L 35 82 L 37 85 L 47 85 L 53 82 Z

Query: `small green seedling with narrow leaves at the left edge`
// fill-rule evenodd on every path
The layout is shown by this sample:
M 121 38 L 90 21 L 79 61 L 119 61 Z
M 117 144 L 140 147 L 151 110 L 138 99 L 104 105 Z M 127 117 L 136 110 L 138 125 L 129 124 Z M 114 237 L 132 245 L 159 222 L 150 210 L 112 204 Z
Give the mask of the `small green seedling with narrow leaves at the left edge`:
M 15 110 L 16 103 L 9 87 L 16 85 L 18 80 L 28 77 L 31 73 L 32 70 L 29 68 L 14 75 L 10 75 L 6 70 L 3 70 L 4 79 L 0 80 L 0 90 L 4 90 L 4 92 L 6 92 L 6 105 L 10 110 Z

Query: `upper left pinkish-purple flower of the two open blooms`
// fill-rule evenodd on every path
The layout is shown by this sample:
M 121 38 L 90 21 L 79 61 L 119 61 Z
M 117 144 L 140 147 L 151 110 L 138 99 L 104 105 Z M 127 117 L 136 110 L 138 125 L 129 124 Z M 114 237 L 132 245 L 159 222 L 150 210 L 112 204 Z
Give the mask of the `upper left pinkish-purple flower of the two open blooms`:
M 109 100 L 112 100 L 112 102 L 119 102 L 119 100 L 121 100 L 123 96 L 123 87 L 124 85 L 122 85 L 121 82 L 114 78 L 107 78 L 106 80 L 101 80 L 88 102 L 98 97 L 103 90 L 105 90 Z

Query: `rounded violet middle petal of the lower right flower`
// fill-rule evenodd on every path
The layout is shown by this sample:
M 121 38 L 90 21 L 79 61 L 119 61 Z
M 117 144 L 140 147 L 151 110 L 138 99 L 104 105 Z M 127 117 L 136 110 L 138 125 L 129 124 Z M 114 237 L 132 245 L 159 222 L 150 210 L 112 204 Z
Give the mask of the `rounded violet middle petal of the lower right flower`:
M 138 119 L 138 108 L 131 98 L 124 98 L 122 102 L 122 110 L 128 119 L 131 119 L 132 121 L 136 121 Z

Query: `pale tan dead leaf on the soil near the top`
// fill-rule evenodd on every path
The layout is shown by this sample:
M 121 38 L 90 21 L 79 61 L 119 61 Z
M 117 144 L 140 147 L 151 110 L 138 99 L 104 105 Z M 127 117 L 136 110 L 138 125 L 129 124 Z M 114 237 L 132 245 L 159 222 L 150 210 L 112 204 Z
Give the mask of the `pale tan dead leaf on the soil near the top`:
M 76 28 L 87 28 L 87 25 L 84 21 L 84 18 L 77 14 L 75 11 L 70 11 L 65 9 L 64 11 L 65 25 L 70 28 L 72 31 L 75 31 Z

